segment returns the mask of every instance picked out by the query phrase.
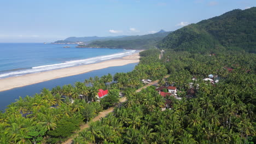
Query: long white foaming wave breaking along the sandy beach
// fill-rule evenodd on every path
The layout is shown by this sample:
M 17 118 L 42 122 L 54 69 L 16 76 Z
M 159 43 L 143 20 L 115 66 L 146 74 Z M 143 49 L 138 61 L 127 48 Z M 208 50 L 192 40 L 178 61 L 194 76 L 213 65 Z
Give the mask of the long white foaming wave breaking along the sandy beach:
M 91 64 L 91 63 L 106 61 L 107 59 L 114 59 L 114 58 L 128 56 L 135 52 L 136 50 L 125 50 L 124 52 L 115 53 L 112 55 L 98 56 L 98 57 L 79 59 L 74 61 L 66 61 L 64 63 L 50 64 L 50 65 L 41 65 L 38 67 L 32 67 L 31 69 L 25 69 L 25 70 L 15 70 L 9 73 L 0 74 L 0 79 L 5 77 L 11 77 L 11 76 L 20 76 L 20 75 L 31 74 L 31 73 L 39 73 L 42 71 L 73 67 L 77 65 Z

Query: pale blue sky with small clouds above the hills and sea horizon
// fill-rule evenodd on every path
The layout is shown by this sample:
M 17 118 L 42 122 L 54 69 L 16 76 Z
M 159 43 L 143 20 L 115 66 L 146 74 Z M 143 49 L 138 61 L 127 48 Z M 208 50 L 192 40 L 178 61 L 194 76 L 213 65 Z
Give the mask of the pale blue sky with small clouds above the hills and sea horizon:
M 143 35 L 256 6 L 255 0 L 0 0 L 0 43 Z

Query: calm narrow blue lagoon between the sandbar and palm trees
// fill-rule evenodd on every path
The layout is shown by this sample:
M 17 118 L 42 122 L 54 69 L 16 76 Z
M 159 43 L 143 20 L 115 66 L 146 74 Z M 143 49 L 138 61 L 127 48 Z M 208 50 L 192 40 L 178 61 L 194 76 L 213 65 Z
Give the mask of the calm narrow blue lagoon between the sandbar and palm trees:
M 117 66 L 117 67 L 109 67 L 99 70 L 90 71 L 88 73 L 79 74 L 79 75 L 73 75 L 73 76 L 67 76 L 67 77 L 61 77 L 59 79 L 44 81 L 40 83 L 36 83 L 33 85 L 28 85 L 24 87 L 18 87 L 13 88 L 8 91 L 0 92 L 0 111 L 4 111 L 4 109 L 7 108 L 7 105 L 15 102 L 15 99 L 19 99 L 19 97 L 26 97 L 26 95 L 29 95 L 33 97 L 34 94 L 40 93 L 40 91 L 43 88 L 48 88 L 51 90 L 51 88 L 56 86 L 63 86 L 63 85 L 74 85 L 75 82 L 80 81 L 84 82 L 85 79 L 89 79 L 89 77 L 101 77 L 106 74 L 112 74 L 115 73 L 127 73 L 128 71 L 132 71 L 137 63 L 131 63 L 123 66 Z

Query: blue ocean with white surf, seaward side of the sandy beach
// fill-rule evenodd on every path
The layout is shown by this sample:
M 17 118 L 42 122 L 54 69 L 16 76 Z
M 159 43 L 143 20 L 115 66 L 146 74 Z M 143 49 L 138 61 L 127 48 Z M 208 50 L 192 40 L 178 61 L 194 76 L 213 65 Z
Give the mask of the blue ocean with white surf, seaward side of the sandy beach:
M 63 48 L 69 46 L 70 48 Z M 135 50 L 76 48 L 77 45 L 0 43 L 0 79 L 106 61 Z

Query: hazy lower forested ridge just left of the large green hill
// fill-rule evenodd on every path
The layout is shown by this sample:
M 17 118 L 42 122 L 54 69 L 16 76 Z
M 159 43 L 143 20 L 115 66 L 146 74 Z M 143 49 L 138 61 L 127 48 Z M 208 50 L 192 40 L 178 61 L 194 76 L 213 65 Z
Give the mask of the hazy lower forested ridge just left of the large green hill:
M 114 40 L 97 40 L 88 44 L 88 47 L 109 47 L 120 49 L 149 49 L 156 46 L 171 32 L 161 30 L 158 33 L 146 35 L 133 35 L 129 37 L 114 39 Z

